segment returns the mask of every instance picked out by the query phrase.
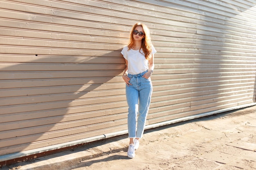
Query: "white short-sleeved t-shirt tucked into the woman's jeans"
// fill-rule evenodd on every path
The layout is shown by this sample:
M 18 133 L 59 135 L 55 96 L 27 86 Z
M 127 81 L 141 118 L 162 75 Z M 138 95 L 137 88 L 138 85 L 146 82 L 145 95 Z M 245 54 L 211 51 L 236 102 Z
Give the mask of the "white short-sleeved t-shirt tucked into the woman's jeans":
M 152 53 L 154 54 L 157 51 L 155 47 L 152 45 Z M 142 53 L 142 54 L 141 54 Z M 128 46 L 125 46 L 121 51 L 121 54 L 124 55 L 124 58 L 128 60 L 128 73 L 130 74 L 139 74 L 143 73 L 148 69 L 148 60 L 145 58 L 145 54 L 142 49 L 139 50 L 128 50 Z

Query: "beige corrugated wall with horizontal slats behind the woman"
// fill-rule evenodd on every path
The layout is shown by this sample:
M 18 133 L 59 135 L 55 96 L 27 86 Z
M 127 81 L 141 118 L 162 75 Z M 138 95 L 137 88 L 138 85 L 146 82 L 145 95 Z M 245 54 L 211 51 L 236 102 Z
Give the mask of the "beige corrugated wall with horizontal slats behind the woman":
M 0 0 L 0 155 L 126 130 L 121 49 L 155 54 L 148 125 L 253 104 L 255 0 Z

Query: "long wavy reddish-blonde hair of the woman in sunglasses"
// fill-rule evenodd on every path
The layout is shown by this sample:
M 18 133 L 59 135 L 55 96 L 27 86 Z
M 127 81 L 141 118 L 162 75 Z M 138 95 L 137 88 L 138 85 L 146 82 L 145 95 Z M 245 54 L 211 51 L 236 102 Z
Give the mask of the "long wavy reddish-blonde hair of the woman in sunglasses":
M 151 57 L 151 53 L 152 53 L 152 43 L 151 43 L 151 39 L 150 39 L 149 29 L 145 24 L 138 22 L 132 27 L 132 31 L 130 33 L 130 41 L 128 44 L 128 50 L 130 50 L 135 43 L 135 40 L 133 38 L 133 30 L 135 30 L 135 28 L 137 26 L 141 26 L 144 31 L 144 38 L 141 41 L 141 49 L 143 50 L 143 52 L 145 54 L 146 60 L 149 60 Z M 140 49 L 139 49 L 139 51 L 140 51 Z

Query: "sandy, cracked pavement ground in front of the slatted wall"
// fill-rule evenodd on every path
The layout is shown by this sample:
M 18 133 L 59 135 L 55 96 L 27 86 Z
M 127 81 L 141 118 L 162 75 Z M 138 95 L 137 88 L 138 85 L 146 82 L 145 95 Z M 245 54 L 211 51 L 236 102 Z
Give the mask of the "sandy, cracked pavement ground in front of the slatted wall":
M 2 170 L 256 170 L 256 106 L 146 130 L 135 158 L 127 135 Z

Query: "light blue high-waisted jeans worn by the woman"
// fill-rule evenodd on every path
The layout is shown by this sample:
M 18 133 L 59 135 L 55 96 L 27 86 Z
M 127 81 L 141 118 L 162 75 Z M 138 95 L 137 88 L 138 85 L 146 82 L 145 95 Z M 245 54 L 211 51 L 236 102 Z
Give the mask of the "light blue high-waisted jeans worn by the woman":
M 141 138 L 144 132 L 151 94 L 153 91 L 150 77 L 142 77 L 147 71 L 137 75 L 128 74 L 130 84 L 126 84 L 126 100 L 128 103 L 128 137 Z M 136 131 L 136 120 L 137 131 Z

